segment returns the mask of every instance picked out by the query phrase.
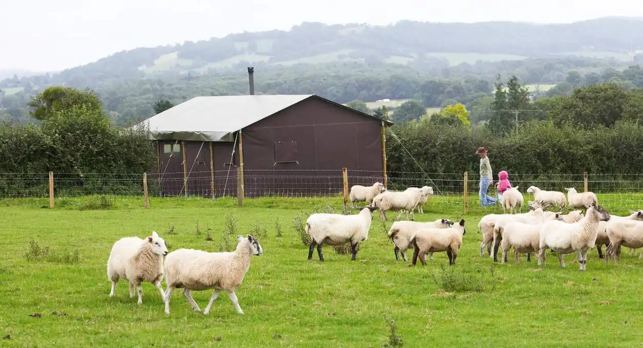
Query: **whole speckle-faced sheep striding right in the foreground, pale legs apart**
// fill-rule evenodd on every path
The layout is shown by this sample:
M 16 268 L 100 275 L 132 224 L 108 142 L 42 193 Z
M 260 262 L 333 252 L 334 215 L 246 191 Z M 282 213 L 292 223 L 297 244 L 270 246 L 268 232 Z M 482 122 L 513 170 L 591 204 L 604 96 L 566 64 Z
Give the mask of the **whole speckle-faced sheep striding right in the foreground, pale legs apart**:
M 175 288 L 183 288 L 183 296 L 188 304 L 199 312 L 201 308 L 192 299 L 190 291 L 214 289 L 208 306 L 203 310 L 204 315 L 210 313 L 219 292 L 226 291 L 237 313 L 243 314 L 235 290 L 248 272 L 250 257 L 262 254 L 264 248 L 251 234 L 247 238 L 237 236 L 237 248 L 233 252 L 206 252 L 186 248 L 170 252 L 165 258 L 165 314 L 170 314 L 170 297 Z

